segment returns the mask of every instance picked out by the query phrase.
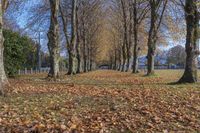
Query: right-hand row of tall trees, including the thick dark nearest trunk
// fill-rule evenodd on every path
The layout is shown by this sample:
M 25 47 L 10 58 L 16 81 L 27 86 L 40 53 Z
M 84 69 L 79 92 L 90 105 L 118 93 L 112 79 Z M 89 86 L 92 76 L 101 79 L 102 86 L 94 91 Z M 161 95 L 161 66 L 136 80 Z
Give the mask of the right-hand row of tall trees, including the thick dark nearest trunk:
M 185 18 L 185 30 L 181 32 L 186 31 L 187 56 L 185 72 L 179 82 L 197 82 L 198 6 L 198 0 L 113 0 L 111 20 L 115 21 L 111 21 L 113 54 L 110 54 L 113 68 L 128 71 L 130 59 L 133 57 L 132 72 L 137 73 L 138 56 L 147 51 L 147 75 L 154 74 L 156 48 L 170 40 L 166 35 L 170 34 L 170 30 L 174 30 L 171 34 L 174 36 L 176 29 L 180 28 L 174 25 L 175 14 L 179 16 L 184 14 L 185 17 L 180 19 Z M 175 10 L 177 7 L 179 10 Z

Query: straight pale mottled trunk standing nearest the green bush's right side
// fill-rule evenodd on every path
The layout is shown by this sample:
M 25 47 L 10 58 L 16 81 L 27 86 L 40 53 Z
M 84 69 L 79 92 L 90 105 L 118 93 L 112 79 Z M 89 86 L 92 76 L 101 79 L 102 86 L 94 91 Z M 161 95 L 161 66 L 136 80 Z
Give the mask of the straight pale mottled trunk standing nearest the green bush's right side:
M 48 31 L 48 49 L 50 53 L 50 72 L 49 77 L 56 79 L 59 76 L 59 5 L 60 0 L 49 0 L 51 9 L 51 21 Z

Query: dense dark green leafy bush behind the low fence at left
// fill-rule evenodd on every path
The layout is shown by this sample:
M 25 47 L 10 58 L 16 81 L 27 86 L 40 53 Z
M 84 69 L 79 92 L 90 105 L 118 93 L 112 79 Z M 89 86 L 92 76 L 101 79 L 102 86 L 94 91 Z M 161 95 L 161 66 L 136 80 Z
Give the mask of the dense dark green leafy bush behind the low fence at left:
M 4 65 L 8 76 L 15 76 L 19 69 L 36 66 L 36 45 L 30 38 L 5 29 L 3 35 Z

